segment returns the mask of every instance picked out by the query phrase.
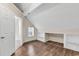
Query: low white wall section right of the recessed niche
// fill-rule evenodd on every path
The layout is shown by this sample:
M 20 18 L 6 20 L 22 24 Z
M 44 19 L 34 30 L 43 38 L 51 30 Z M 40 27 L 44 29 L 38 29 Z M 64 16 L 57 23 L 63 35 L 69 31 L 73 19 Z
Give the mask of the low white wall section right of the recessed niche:
M 64 48 L 79 51 L 79 34 L 65 34 Z

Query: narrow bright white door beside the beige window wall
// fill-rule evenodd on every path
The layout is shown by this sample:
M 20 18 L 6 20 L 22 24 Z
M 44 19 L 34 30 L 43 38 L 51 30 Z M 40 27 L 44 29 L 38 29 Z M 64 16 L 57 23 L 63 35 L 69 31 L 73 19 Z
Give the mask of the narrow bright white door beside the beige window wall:
M 22 19 L 15 16 L 15 50 L 22 45 Z

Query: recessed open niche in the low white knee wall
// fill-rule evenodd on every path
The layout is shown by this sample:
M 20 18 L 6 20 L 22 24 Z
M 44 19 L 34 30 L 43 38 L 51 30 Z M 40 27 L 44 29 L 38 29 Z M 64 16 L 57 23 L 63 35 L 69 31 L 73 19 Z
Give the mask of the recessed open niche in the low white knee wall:
M 55 41 L 59 43 L 64 42 L 64 34 L 58 34 L 58 33 L 46 33 L 46 39 L 48 41 Z

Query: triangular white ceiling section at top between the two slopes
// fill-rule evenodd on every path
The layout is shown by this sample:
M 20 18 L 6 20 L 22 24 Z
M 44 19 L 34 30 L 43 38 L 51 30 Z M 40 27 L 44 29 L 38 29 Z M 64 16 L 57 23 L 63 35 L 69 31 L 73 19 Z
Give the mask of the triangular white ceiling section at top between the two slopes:
M 40 6 L 42 3 L 15 3 L 16 7 L 18 7 L 24 15 L 32 12 L 35 8 Z

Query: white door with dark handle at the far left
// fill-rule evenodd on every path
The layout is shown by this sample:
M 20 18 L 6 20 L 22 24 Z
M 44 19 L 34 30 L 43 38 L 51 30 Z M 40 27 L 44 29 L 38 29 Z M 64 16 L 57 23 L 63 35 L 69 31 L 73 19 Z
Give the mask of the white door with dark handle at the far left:
M 0 19 L 0 56 L 9 56 L 15 48 L 14 19 Z

